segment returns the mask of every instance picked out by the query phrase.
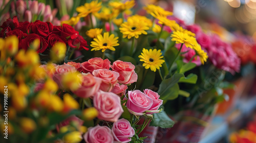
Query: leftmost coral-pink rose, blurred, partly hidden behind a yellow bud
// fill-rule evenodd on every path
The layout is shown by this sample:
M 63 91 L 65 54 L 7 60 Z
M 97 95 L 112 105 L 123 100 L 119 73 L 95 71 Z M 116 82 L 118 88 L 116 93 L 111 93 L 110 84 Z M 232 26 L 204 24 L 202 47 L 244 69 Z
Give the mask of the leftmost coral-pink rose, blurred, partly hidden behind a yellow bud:
M 61 76 L 69 73 L 75 72 L 76 68 L 74 66 L 68 64 L 62 64 L 55 67 L 55 71 L 53 72 L 52 79 L 58 84 L 59 88 L 63 88 L 61 85 Z

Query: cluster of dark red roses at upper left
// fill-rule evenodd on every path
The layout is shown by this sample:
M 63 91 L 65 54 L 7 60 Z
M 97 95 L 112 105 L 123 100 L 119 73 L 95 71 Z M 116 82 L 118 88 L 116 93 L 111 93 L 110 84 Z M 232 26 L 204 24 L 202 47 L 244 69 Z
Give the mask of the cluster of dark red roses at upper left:
M 68 43 L 70 47 L 78 50 L 89 50 L 86 47 L 88 46 L 87 41 L 73 27 L 66 24 L 60 27 L 53 26 L 51 22 L 42 22 L 40 20 L 19 22 L 17 16 L 14 16 L 13 19 L 7 19 L 1 28 L 3 30 L 0 33 L 0 37 L 5 38 L 10 35 L 18 37 L 19 49 L 27 50 L 32 41 L 39 39 L 38 53 L 50 50 L 56 42 Z

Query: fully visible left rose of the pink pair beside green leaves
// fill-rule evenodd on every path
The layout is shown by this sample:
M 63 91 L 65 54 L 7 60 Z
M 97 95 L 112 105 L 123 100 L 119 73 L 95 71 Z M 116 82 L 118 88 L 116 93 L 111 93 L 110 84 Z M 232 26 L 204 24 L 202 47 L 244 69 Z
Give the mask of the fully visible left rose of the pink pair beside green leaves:
M 140 90 L 128 91 L 128 100 L 126 103 L 130 113 L 143 115 L 146 110 L 153 105 L 153 100 Z

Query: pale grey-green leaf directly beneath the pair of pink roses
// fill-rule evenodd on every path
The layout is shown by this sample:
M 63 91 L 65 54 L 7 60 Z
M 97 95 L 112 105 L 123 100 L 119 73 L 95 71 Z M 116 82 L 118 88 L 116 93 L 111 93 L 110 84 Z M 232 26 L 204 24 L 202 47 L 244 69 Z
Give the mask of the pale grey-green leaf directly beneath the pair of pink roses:
M 156 126 L 161 128 L 172 128 L 174 121 L 168 117 L 168 115 L 162 111 L 160 113 L 153 114 L 154 121 L 150 123 L 150 126 Z

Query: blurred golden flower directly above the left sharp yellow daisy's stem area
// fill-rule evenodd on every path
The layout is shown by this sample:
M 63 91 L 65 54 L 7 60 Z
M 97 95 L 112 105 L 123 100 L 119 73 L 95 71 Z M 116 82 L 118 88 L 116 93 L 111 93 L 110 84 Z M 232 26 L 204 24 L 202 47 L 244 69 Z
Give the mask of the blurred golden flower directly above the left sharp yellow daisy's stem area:
M 103 7 L 100 13 L 94 13 L 94 15 L 102 21 L 110 21 L 118 16 L 118 11 Z

